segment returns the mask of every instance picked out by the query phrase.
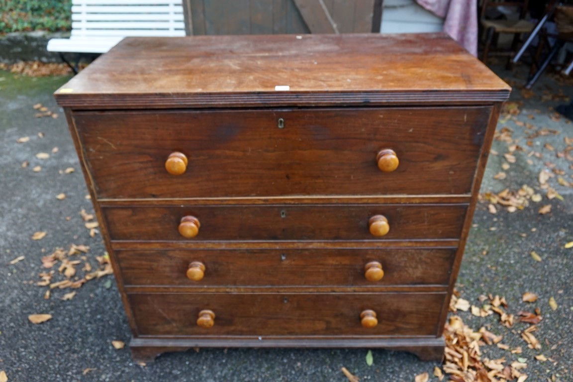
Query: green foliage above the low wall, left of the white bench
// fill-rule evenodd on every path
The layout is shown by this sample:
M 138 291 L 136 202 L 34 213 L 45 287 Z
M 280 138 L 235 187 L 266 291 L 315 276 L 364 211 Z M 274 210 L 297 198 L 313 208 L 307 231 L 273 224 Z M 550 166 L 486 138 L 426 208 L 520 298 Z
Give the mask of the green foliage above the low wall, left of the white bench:
M 71 0 L 0 0 L 0 34 L 32 30 L 70 30 Z

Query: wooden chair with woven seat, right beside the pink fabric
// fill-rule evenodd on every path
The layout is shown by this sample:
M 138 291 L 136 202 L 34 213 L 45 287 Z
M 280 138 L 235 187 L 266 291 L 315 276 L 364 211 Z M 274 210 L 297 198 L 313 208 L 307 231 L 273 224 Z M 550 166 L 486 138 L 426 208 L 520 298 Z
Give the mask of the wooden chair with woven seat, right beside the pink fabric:
M 490 53 L 490 49 L 492 46 L 492 42 L 494 37 L 499 36 L 500 33 L 508 33 L 513 34 L 513 42 L 511 45 L 511 50 L 509 51 L 498 51 L 494 54 L 496 55 L 504 55 L 509 56 L 511 60 L 511 56 L 515 54 L 517 51 L 517 46 L 519 45 L 521 35 L 524 33 L 531 33 L 533 30 L 533 23 L 525 19 L 525 15 L 527 14 L 527 5 L 528 0 L 523 1 L 495 1 L 495 0 L 484 0 L 481 7 L 481 15 L 480 15 L 480 25 L 482 29 L 485 31 L 485 44 L 484 44 L 484 51 L 482 54 L 482 61 L 484 64 L 487 63 L 488 57 L 492 54 Z M 488 19 L 486 18 L 486 14 L 488 13 L 488 9 L 493 7 L 514 7 L 517 8 L 519 13 L 519 18 L 515 20 L 510 20 L 507 18 L 504 19 Z M 511 61 L 508 61 L 508 66 L 511 65 Z

